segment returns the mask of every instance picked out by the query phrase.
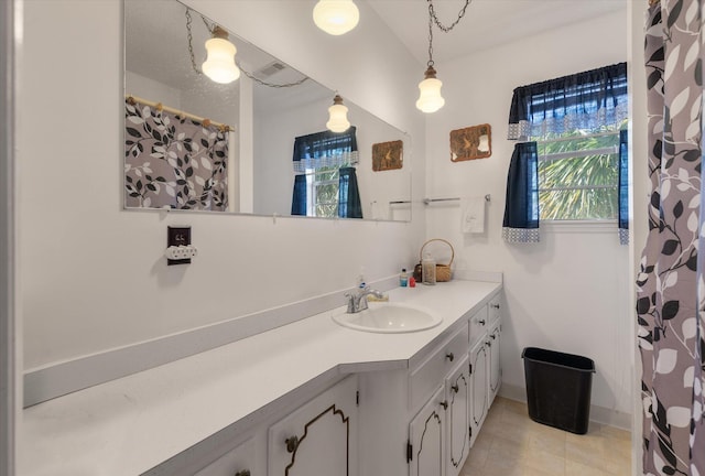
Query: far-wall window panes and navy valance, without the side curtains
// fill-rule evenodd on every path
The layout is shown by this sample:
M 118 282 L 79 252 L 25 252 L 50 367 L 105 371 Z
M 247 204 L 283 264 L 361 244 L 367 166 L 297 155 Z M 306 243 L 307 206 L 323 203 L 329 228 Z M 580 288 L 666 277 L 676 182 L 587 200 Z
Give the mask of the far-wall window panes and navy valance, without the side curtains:
M 510 139 L 538 144 L 540 219 L 618 218 L 627 113 L 626 63 L 514 90 Z

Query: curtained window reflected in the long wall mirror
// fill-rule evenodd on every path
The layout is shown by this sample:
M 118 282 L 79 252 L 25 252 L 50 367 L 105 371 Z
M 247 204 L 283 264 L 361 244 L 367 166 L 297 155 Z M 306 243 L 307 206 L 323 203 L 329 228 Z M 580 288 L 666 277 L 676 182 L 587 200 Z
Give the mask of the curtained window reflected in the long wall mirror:
M 316 132 L 294 141 L 292 215 L 362 218 L 355 165 L 356 129 Z

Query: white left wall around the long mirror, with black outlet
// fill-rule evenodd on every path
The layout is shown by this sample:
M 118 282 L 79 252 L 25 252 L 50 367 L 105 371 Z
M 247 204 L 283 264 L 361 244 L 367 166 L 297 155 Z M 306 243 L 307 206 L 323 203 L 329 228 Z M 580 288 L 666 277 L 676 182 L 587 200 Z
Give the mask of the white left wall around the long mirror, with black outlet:
M 334 39 L 311 24 L 313 0 L 188 3 L 424 149 L 424 119 L 413 106 L 419 64 L 366 4 L 358 28 Z M 360 266 L 373 281 L 413 262 L 422 214 L 413 224 L 274 223 L 122 210 L 120 6 L 24 4 L 18 147 L 25 368 L 336 292 L 355 284 Z M 414 187 L 422 196 L 423 182 Z M 165 266 L 167 225 L 193 227 L 193 264 Z

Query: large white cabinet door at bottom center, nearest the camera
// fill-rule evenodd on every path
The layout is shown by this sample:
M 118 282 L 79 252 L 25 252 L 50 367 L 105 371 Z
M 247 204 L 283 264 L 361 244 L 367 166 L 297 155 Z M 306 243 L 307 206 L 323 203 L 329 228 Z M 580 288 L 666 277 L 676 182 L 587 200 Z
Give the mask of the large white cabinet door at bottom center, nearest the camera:
M 357 376 L 269 429 L 269 476 L 357 475 Z

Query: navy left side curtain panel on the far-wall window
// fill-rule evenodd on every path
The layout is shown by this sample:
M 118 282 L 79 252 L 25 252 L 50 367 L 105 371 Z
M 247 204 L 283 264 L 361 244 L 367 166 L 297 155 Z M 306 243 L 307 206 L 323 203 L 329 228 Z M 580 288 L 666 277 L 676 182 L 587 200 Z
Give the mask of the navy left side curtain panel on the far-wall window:
M 535 142 L 514 144 L 507 176 L 502 237 L 507 242 L 539 242 L 539 154 Z

